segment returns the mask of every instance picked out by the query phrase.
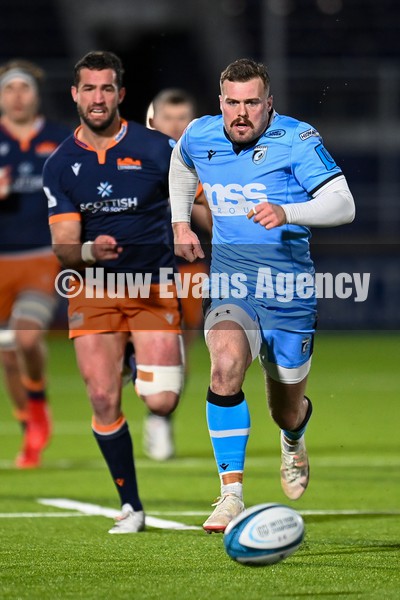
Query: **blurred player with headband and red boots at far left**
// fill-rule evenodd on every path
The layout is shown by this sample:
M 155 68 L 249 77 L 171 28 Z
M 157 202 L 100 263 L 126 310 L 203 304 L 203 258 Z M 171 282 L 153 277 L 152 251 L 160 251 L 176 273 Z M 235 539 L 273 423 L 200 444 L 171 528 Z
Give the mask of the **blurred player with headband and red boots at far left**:
M 24 429 L 19 468 L 40 464 L 51 435 L 44 334 L 56 307 L 45 160 L 70 131 L 40 114 L 44 72 L 25 60 L 0 67 L 0 354 Z

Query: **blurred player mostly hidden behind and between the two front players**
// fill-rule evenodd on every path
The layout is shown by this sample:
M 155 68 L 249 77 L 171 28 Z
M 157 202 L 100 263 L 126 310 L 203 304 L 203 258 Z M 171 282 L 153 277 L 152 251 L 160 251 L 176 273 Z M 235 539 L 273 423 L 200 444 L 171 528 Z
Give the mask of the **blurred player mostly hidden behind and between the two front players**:
M 150 103 L 146 125 L 178 140 L 185 127 L 195 117 L 196 105 L 192 96 L 185 90 L 168 88 L 159 92 Z M 209 244 L 212 227 L 211 213 L 201 184 L 198 185 L 193 204 L 192 227 L 202 243 Z M 173 243 L 172 232 L 171 243 Z M 186 274 L 186 277 L 192 281 L 196 273 L 208 273 L 208 261 L 198 260 L 196 263 L 189 263 L 178 259 L 178 270 L 182 277 L 185 277 Z M 194 297 L 191 289 L 190 287 L 187 297 L 181 298 L 186 360 L 189 345 L 196 338 L 203 324 L 202 300 Z M 134 370 L 134 358 L 130 355 L 128 360 Z M 188 366 L 186 365 L 187 370 Z M 149 412 L 145 419 L 143 441 L 144 451 L 150 458 L 160 461 L 172 458 L 175 454 L 175 444 L 171 416 L 162 417 Z

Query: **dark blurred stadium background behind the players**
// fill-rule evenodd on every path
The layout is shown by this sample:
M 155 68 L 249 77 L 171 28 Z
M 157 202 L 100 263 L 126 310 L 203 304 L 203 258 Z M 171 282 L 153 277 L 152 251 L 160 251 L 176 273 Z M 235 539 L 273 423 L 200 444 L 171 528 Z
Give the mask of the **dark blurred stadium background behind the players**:
M 47 71 L 45 112 L 71 128 L 73 66 L 94 49 L 123 59 L 121 112 L 141 122 L 152 97 L 171 86 L 190 91 L 199 114 L 216 114 L 221 70 L 243 56 L 265 62 L 275 108 L 318 129 L 356 201 L 353 224 L 314 230 L 317 263 L 323 269 L 329 258 L 340 272 L 356 262 L 358 271 L 379 273 L 379 281 L 371 279 L 371 309 L 331 305 L 330 324 L 380 328 L 383 312 L 384 328 L 400 328 L 400 3 L 1 0 L 0 62 L 23 57 L 40 64 Z M 337 252 L 340 244 L 354 244 L 352 256 Z

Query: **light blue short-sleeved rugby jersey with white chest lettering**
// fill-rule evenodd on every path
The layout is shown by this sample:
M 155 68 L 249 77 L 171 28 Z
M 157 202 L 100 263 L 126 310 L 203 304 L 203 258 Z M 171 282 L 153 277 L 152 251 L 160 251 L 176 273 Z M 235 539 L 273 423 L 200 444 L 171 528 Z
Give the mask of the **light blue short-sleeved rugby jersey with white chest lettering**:
M 266 200 L 310 200 L 319 187 L 342 174 L 340 168 L 311 125 L 277 113 L 255 143 L 238 149 L 225 134 L 222 115 L 193 121 L 181 138 L 182 158 L 196 169 L 212 211 L 211 272 L 246 274 L 250 294 L 260 268 L 269 268 L 273 277 L 313 274 L 307 227 L 266 230 L 246 215 Z

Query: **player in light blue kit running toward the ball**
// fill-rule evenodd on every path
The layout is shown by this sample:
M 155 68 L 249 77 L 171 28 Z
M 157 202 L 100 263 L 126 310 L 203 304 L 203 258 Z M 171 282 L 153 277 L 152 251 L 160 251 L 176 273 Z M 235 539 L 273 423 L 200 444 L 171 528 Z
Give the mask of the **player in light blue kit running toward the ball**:
M 213 217 L 206 342 L 211 358 L 207 422 L 221 483 L 203 527 L 222 532 L 244 510 L 250 415 L 242 391 L 258 356 L 281 430 L 281 484 L 299 498 L 309 479 L 305 396 L 316 320 L 309 227 L 354 219 L 346 179 L 308 123 L 273 109 L 266 67 L 239 59 L 221 74 L 222 115 L 189 125 L 170 167 L 176 253 L 203 257 L 190 229 L 198 179 Z

